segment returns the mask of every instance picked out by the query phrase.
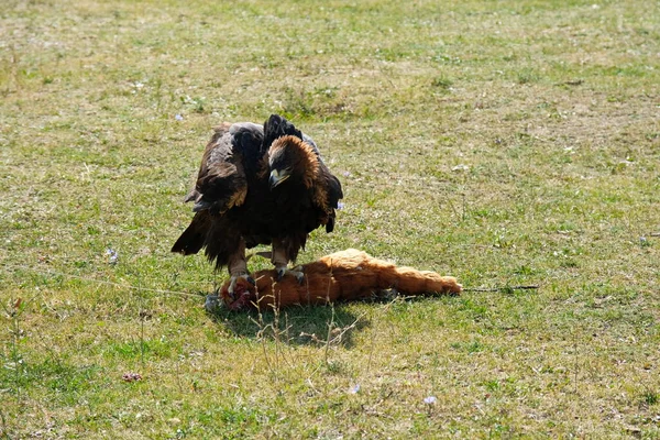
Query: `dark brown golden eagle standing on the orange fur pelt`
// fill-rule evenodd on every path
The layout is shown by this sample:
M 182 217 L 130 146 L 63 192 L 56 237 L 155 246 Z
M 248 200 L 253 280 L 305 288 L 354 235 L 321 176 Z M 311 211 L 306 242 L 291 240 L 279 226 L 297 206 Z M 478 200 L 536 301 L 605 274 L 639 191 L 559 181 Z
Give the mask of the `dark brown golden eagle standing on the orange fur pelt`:
M 195 188 L 195 217 L 172 252 L 202 248 L 216 268 L 227 266 L 230 292 L 249 278 L 245 249 L 272 244 L 271 261 L 282 278 L 309 232 L 334 228 L 341 184 L 323 163 L 315 142 L 286 119 L 272 114 L 258 125 L 223 123 L 206 146 Z

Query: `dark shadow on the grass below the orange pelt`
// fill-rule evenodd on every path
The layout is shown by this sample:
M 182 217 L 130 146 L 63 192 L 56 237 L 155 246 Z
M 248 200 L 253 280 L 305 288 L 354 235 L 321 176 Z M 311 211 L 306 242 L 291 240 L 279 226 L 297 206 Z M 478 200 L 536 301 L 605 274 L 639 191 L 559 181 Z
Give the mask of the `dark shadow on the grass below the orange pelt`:
M 353 334 L 371 324 L 366 317 L 355 316 L 343 304 L 294 306 L 261 314 L 220 309 L 208 316 L 238 337 L 278 339 L 289 345 L 320 345 L 330 340 L 331 344 L 351 348 Z

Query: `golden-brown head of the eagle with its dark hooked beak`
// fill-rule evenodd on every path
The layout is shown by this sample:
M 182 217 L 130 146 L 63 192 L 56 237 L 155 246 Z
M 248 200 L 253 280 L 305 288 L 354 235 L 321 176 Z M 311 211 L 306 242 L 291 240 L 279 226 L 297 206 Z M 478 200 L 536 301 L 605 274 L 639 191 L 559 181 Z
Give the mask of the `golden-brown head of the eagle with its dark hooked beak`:
M 284 182 L 302 182 L 311 187 L 318 173 L 319 160 L 314 148 L 295 135 L 276 139 L 268 148 L 268 168 L 271 189 Z

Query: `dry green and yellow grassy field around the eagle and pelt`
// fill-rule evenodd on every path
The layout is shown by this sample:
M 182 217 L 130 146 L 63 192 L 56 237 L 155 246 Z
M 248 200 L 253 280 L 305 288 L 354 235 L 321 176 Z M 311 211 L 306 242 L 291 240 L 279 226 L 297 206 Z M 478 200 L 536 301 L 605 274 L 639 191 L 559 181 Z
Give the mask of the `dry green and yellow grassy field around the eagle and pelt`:
M 0 438 L 660 438 L 659 30 L 640 0 L 2 1 Z M 344 186 L 299 262 L 501 289 L 206 314 L 183 197 L 212 125 L 272 112 Z

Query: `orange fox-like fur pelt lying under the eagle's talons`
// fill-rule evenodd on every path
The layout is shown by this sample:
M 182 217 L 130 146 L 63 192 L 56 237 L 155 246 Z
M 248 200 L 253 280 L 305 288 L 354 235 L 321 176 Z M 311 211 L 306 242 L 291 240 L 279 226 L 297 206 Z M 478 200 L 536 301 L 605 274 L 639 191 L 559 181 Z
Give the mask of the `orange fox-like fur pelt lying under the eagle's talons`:
M 230 295 L 228 280 L 220 289 L 220 297 L 230 310 L 241 310 L 256 306 L 266 309 L 348 301 L 388 288 L 405 295 L 461 293 L 461 285 L 453 277 L 397 267 L 354 249 L 326 255 L 301 268 L 305 273 L 302 284 L 290 275 L 277 282 L 275 271 L 258 271 L 252 274 L 256 286 L 239 278 L 233 295 Z

